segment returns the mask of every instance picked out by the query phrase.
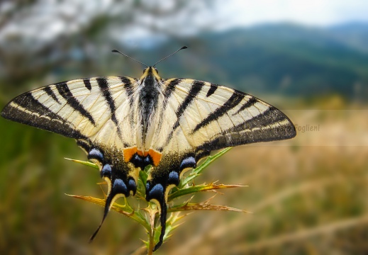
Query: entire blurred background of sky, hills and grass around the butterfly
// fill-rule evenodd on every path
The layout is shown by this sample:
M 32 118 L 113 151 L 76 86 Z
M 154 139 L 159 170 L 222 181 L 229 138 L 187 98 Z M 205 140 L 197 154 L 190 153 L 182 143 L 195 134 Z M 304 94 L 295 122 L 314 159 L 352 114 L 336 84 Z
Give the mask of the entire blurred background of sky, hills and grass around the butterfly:
M 194 212 L 157 254 L 368 252 L 368 2 L 0 2 L 0 108 L 57 81 L 192 78 L 245 91 L 293 120 L 296 138 L 236 147 L 196 183 L 248 187 Z M 65 196 L 103 198 L 74 140 L 0 118 L 0 254 L 140 254 L 143 227 Z M 203 194 L 202 199 L 213 193 Z M 132 199 L 132 198 L 130 198 Z

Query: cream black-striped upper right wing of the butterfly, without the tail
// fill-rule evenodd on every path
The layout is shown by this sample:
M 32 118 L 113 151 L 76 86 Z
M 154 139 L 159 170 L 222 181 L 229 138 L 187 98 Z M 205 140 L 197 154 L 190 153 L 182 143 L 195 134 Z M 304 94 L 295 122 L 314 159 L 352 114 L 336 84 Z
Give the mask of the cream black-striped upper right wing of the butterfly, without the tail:
M 164 84 L 159 151 L 212 151 L 296 135 L 284 113 L 254 96 L 192 79 Z

